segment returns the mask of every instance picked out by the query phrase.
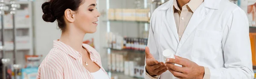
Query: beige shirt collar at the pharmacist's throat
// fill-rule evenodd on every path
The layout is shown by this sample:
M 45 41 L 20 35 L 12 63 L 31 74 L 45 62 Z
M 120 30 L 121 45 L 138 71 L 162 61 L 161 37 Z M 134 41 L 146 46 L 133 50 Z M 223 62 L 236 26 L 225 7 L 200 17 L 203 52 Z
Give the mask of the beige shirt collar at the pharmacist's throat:
M 195 9 L 198 8 L 198 6 L 201 5 L 201 3 L 203 3 L 204 0 L 190 0 L 189 3 L 185 4 L 184 6 L 189 6 L 189 8 L 191 9 L 192 12 L 195 12 Z M 173 6 L 175 7 L 175 9 L 180 11 L 180 8 L 177 4 L 177 0 L 173 0 Z

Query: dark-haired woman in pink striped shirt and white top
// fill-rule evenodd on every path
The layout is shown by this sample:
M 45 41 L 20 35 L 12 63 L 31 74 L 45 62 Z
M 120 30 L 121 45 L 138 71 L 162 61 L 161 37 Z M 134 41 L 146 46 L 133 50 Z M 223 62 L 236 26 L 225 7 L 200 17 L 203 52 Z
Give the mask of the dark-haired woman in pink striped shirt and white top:
M 43 20 L 58 22 L 62 34 L 38 69 L 37 79 L 109 79 L 99 53 L 82 44 L 96 31 L 96 0 L 49 0 L 42 5 Z

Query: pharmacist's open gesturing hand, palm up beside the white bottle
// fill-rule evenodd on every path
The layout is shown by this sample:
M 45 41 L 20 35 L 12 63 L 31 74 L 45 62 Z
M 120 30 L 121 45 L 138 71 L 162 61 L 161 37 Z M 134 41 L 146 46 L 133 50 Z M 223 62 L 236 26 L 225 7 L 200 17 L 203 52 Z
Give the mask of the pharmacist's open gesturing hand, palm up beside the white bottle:
M 146 53 L 146 71 L 150 76 L 161 75 L 163 72 L 167 71 L 166 66 L 163 62 L 158 62 L 152 54 L 149 52 L 149 48 L 145 48 Z

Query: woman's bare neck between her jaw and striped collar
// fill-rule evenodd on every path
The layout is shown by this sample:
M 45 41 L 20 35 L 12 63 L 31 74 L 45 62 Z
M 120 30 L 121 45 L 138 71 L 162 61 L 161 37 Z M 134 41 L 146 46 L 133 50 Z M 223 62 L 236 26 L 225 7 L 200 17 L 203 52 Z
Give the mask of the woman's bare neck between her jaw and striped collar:
M 66 45 L 69 45 L 71 48 L 81 53 L 83 49 L 82 43 L 84 35 L 85 33 L 82 33 L 81 30 L 78 31 L 78 29 L 75 30 L 75 28 L 73 28 L 62 32 L 59 41 L 65 43 Z

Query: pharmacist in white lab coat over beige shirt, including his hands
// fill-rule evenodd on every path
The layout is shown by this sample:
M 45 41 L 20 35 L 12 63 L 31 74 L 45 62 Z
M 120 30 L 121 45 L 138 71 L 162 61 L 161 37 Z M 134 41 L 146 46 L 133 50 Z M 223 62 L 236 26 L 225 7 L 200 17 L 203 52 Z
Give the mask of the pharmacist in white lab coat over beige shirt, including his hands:
M 151 16 L 145 63 L 145 79 L 253 79 L 247 15 L 228 0 L 169 0 Z

